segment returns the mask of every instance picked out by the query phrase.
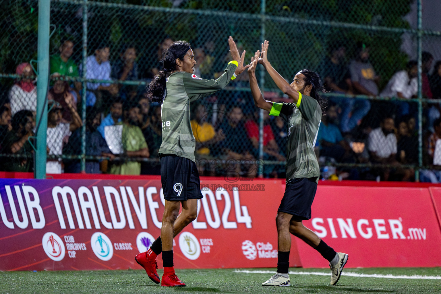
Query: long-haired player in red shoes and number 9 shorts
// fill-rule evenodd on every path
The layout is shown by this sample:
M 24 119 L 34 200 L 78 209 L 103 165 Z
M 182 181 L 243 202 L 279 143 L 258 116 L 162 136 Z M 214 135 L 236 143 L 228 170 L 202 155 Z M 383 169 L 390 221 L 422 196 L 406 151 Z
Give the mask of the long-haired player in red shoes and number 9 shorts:
M 216 80 L 206 80 L 193 74 L 196 61 L 186 41 L 176 41 L 163 53 L 164 70 L 159 71 L 149 84 L 147 96 L 161 103 L 162 144 L 161 182 L 165 208 L 162 216 L 161 237 L 149 250 L 136 255 L 135 260 L 149 278 L 161 286 L 185 286 L 173 268 L 173 238 L 196 219 L 198 199 L 202 198 L 199 173 L 194 159 L 196 140 L 190 123 L 190 102 L 223 89 L 228 82 L 245 70 L 232 37 L 228 38 L 233 60 Z M 182 205 L 182 212 L 179 208 Z M 179 216 L 178 216 L 179 214 Z M 156 271 L 156 257 L 162 252 L 164 275 L 162 281 Z

